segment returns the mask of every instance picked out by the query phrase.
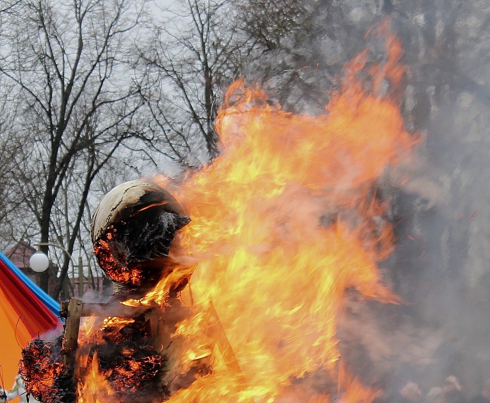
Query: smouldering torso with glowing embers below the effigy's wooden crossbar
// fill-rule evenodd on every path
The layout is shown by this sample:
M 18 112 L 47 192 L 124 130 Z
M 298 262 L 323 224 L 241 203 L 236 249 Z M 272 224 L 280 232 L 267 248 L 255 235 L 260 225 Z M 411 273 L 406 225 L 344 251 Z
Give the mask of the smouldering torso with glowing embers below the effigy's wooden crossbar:
M 145 324 L 113 316 L 98 321 L 85 319 L 80 332 L 78 403 L 122 402 L 138 393 L 154 393 L 165 362 L 146 343 Z

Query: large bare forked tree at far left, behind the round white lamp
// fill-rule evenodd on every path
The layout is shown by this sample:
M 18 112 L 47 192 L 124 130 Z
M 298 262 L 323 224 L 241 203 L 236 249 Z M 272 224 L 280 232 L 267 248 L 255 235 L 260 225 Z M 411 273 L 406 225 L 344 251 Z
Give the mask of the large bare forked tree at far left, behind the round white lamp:
M 137 120 L 142 101 L 125 63 L 144 5 L 22 0 L 3 21 L 0 74 L 13 85 L 4 96 L 16 108 L 11 134 L 24 152 L 15 167 L 17 197 L 35 218 L 42 244 L 63 241 L 72 253 L 95 178 L 122 146 L 151 141 Z M 69 225 L 61 227 L 56 206 L 66 203 Z M 65 257 L 54 297 L 68 265 Z M 48 280 L 41 279 L 45 290 Z

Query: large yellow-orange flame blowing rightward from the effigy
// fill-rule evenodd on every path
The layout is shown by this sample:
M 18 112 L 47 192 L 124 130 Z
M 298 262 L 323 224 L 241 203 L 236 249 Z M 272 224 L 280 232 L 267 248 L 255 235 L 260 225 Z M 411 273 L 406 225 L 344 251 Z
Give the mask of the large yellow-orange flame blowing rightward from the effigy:
M 213 301 L 236 365 L 215 366 L 170 401 L 273 401 L 294 379 L 321 370 L 338 378 L 345 291 L 399 301 L 379 274 L 394 237 L 377 182 L 417 139 L 404 129 L 396 94 L 381 94 L 383 79 L 396 86 L 404 72 L 399 42 L 387 42 L 387 61 L 367 72 L 373 93 L 358 79 L 363 52 L 318 116 L 270 105 L 243 80 L 230 87 L 216 120 L 222 153 L 175 193 L 192 218 L 179 241 L 198 262 L 193 299 Z M 346 379 L 345 401 L 376 395 Z M 329 400 L 301 395 L 318 399 Z

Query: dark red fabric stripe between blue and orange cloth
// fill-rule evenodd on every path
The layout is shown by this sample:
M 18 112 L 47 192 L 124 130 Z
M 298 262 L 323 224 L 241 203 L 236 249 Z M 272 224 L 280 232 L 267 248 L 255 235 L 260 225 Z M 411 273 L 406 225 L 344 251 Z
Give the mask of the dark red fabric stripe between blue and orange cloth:
M 0 261 L 0 286 L 32 338 L 59 326 L 57 317 Z M 4 303 L 5 301 L 0 301 Z

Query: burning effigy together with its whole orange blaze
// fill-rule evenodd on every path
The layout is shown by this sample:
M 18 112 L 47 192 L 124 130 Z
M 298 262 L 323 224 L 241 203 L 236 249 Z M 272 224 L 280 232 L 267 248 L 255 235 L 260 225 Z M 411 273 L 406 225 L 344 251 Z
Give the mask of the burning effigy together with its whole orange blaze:
M 178 186 L 156 176 L 104 197 L 92 241 L 116 292 L 68 309 L 90 318 L 64 360 L 70 401 L 374 399 L 341 361 L 336 332 L 347 290 L 399 302 L 378 267 L 394 241 L 378 181 L 417 139 L 380 90 L 404 73 L 387 37 L 384 64 L 367 69 L 359 55 L 320 115 L 286 112 L 238 80 L 212 164 Z

